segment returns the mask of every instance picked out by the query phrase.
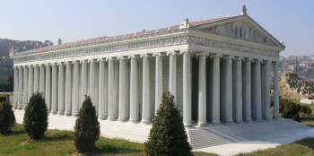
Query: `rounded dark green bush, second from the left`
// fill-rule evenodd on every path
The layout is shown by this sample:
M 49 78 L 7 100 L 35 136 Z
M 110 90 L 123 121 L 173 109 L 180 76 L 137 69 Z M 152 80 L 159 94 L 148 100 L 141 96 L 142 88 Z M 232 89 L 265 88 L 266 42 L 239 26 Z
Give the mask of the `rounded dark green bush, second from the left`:
M 45 136 L 48 127 L 48 108 L 42 93 L 36 92 L 31 95 L 30 102 L 25 108 L 23 126 L 33 140 Z

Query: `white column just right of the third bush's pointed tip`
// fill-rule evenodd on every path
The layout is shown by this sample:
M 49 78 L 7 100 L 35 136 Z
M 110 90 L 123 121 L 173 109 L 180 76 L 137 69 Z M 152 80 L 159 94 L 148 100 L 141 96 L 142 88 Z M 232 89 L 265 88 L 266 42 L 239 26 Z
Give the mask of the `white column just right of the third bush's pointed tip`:
M 96 108 L 96 112 L 98 112 L 98 105 L 96 104 L 95 100 L 95 62 L 96 60 L 90 60 L 90 96 L 92 99 L 92 106 Z

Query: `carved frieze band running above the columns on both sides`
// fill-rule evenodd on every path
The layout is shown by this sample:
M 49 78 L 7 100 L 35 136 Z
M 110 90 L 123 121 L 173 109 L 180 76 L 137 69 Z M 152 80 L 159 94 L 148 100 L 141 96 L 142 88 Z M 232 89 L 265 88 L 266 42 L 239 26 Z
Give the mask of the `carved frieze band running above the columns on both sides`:
M 71 56 L 83 56 L 83 55 L 92 55 L 92 54 L 100 54 L 100 53 L 109 53 L 109 52 L 125 51 L 125 50 L 132 50 L 132 49 L 138 49 L 138 48 L 156 48 L 156 47 L 186 44 L 186 43 L 203 45 L 203 46 L 212 47 L 212 48 L 225 48 L 225 49 L 230 49 L 234 51 L 252 53 L 252 54 L 257 54 L 257 55 L 262 55 L 262 56 L 279 56 L 279 53 L 276 53 L 275 51 L 269 51 L 269 50 L 264 50 L 264 49 L 259 49 L 259 48 L 249 48 L 246 46 L 237 45 L 233 43 L 185 35 L 185 36 L 171 37 L 171 38 L 166 38 L 166 39 L 146 40 L 146 41 L 141 41 L 137 43 L 129 43 L 129 44 L 123 44 L 123 45 L 105 46 L 102 48 L 78 49 L 78 50 L 69 51 L 69 52 L 61 52 L 61 53 L 47 54 L 47 55 L 40 55 L 40 56 L 30 56 L 30 57 L 22 57 L 22 58 L 18 58 L 18 56 L 16 56 L 14 58 L 14 63 L 45 60 L 45 59 L 55 59 L 55 58 L 63 58 L 63 57 L 71 57 Z M 42 53 L 39 52 L 38 54 L 42 54 Z

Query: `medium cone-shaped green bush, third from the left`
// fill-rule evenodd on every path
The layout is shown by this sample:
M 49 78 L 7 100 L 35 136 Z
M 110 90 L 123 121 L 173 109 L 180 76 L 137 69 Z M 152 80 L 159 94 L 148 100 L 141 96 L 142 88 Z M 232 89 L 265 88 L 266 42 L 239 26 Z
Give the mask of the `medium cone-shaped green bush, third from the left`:
M 74 126 L 74 146 L 79 152 L 91 152 L 96 149 L 96 141 L 100 136 L 100 122 L 92 100 L 85 95 L 82 108 Z

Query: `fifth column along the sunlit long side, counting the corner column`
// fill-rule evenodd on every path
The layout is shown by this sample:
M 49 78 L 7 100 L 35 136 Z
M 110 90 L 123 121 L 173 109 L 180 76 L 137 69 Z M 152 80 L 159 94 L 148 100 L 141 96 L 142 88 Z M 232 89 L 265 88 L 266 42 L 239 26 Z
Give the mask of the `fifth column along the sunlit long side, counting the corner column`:
M 138 89 L 138 65 L 137 56 L 131 58 L 131 81 L 130 81 L 130 119 L 129 122 L 137 123 L 139 107 L 139 89 Z

